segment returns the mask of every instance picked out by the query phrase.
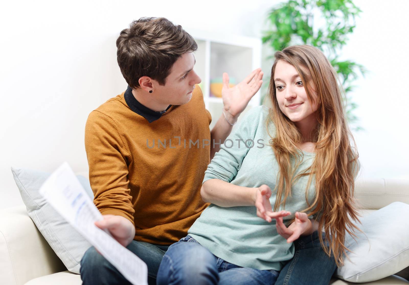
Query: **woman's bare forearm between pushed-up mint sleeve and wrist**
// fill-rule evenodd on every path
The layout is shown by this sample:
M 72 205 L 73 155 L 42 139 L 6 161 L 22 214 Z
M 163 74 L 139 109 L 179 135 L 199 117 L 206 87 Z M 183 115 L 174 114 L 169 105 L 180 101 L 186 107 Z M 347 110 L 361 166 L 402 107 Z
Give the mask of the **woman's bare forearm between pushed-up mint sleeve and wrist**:
M 205 202 L 220 207 L 254 206 L 257 188 L 241 187 L 220 179 L 202 184 L 200 194 Z

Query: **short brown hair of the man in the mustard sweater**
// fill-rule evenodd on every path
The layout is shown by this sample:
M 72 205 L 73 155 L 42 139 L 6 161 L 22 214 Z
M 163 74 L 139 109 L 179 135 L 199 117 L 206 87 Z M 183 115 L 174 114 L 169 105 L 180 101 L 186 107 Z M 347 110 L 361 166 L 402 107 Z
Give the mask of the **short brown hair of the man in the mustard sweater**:
M 140 18 L 124 29 L 117 39 L 117 60 L 121 73 L 133 89 L 139 78 L 149 76 L 160 85 L 182 54 L 196 51 L 198 45 L 182 26 L 166 18 Z

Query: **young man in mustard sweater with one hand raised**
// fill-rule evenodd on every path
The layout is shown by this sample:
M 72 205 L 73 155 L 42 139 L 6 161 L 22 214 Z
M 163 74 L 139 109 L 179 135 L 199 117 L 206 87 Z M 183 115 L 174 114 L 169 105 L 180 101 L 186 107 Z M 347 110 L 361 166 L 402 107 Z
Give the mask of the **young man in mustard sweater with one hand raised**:
M 200 196 L 207 165 L 249 100 L 263 72 L 229 88 L 223 115 L 211 116 L 198 87 L 193 38 L 165 18 L 141 18 L 121 31 L 117 59 L 128 88 L 92 111 L 85 149 L 97 223 L 148 265 L 155 284 L 162 256 L 208 204 Z M 215 142 L 213 144 L 213 142 Z M 83 284 L 129 284 L 94 247 L 81 260 Z

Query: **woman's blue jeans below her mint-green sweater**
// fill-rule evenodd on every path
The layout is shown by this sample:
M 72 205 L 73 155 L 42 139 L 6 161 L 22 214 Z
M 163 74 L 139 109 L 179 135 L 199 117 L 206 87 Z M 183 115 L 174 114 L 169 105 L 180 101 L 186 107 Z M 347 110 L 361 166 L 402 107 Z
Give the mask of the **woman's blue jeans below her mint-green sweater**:
M 171 245 L 157 273 L 157 285 L 328 285 L 335 259 L 319 244 L 318 232 L 294 241 L 293 258 L 280 272 L 243 268 L 211 254 L 189 235 Z

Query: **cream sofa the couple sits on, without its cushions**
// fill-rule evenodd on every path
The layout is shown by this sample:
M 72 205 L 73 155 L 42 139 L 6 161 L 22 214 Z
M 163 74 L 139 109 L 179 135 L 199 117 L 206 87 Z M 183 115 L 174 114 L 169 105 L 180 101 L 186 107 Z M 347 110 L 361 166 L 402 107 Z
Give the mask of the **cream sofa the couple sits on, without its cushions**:
M 362 215 L 395 201 L 409 204 L 409 180 L 358 180 L 355 191 L 355 196 L 361 203 Z M 409 280 L 409 267 L 396 275 L 365 284 L 408 284 L 409 281 L 404 278 Z M 24 205 L 0 210 L 0 284 L 81 284 L 80 276 L 67 271 L 47 244 L 27 215 Z M 333 278 L 330 284 L 353 283 Z

